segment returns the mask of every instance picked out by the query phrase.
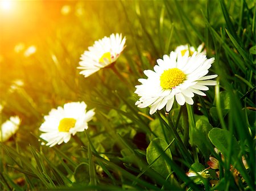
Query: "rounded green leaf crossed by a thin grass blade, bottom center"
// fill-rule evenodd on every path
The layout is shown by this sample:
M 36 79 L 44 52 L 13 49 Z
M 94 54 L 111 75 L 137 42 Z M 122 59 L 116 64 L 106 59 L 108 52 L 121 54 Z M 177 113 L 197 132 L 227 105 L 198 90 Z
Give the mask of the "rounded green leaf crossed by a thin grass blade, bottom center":
M 158 148 L 162 148 L 162 151 L 160 152 Z M 163 154 L 164 149 L 168 146 L 166 141 L 162 138 L 155 138 L 150 142 L 150 145 L 147 147 L 147 162 L 148 164 L 151 164 L 154 162 L 156 158 L 159 157 L 159 155 Z M 172 158 L 171 151 L 166 150 L 166 154 Z M 163 177 L 167 177 L 171 173 L 171 167 L 170 164 L 162 157 L 160 156 L 155 162 L 152 164 L 152 168 L 158 172 Z

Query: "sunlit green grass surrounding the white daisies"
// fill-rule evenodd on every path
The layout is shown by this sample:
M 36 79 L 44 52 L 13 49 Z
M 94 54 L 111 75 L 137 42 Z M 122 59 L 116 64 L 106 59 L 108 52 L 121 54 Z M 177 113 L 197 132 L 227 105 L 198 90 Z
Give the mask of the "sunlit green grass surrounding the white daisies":
M 49 20 L 50 28 L 29 40 L 38 48 L 35 54 L 2 54 L 0 122 L 18 115 L 22 123 L 14 137 L 0 143 L 0 190 L 255 189 L 254 1 L 64 4 L 72 11 L 56 23 Z M 126 81 L 111 69 L 84 78 L 76 69 L 80 55 L 111 33 L 127 39 L 115 64 Z M 219 82 L 206 97 L 152 116 L 149 108 L 134 105 L 143 70 L 178 45 L 202 42 L 208 58 L 215 58 L 209 73 L 218 74 Z M 10 91 L 15 79 L 24 85 Z M 59 146 L 40 145 L 43 116 L 71 101 L 96 108 L 88 130 Z M 208 168 L 209 156 L 219 160 L 219 177 L 213 169 L 208 178 L 185 174 Z

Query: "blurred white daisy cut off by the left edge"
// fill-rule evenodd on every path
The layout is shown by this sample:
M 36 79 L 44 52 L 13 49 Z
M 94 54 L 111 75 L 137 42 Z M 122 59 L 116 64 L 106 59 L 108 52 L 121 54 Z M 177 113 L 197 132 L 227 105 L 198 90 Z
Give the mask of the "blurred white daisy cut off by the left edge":
M 10 117 L 4 122 L 0 129 L 0 142 L 7 141 L 19 129 L 20 118 L 18 116 Z

